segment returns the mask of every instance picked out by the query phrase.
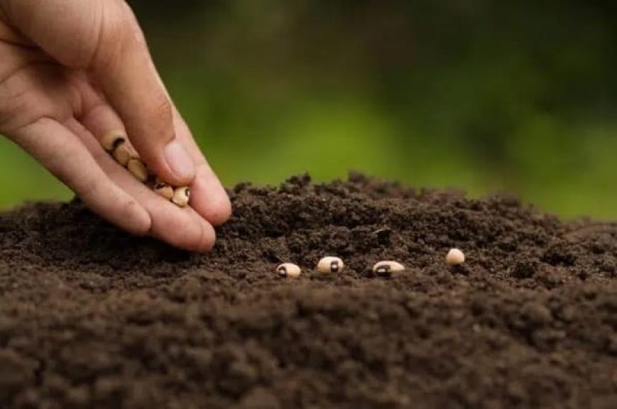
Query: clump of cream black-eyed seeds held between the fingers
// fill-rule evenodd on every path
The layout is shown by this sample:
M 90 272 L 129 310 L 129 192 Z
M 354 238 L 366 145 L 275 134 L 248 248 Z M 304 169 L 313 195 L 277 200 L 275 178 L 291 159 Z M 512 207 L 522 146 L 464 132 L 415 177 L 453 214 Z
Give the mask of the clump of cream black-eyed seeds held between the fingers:
M 179 207 L 189 205 L 191 190 L 187 186 L 172 187 L 164 180 L 151 175 L 145 163 L 140 159 L 139 153 L 128 143 L 126 137 L 119 132 L 107 133 L 101 139 L 101 146 L 116 159 L 116 162 L 125 167 L 135 179 L 152 187 L 157 195 L 164 197 Z

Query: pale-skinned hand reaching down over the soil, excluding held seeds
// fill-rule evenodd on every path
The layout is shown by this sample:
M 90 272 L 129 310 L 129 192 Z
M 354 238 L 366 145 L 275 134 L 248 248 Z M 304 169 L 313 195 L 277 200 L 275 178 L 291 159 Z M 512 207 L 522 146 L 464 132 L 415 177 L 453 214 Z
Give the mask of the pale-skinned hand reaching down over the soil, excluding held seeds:
M 99 144 L 121 131 L 184 209 Z M 0 133 L 101 217 L 136 235 L 209 251 L 229 198 L 174 107 L 123 0 L 0 0 Z

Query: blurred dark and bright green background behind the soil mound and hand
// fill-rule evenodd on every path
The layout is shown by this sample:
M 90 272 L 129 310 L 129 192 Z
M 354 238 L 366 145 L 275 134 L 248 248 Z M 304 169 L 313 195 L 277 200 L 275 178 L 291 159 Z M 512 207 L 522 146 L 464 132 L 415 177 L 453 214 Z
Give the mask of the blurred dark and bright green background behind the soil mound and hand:
M 615 1 L 129 3 L 228 186 L 362 170 L 617 217 Z M 0 160 L 0 207 L 70 197 Z

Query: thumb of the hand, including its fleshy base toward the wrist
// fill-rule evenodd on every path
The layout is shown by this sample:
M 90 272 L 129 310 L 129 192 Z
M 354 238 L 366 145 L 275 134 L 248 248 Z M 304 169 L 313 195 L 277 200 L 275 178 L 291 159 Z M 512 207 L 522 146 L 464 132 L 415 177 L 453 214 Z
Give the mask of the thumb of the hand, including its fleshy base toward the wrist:
M 172 102 L 125 1 L 4 3 L 11 23 L 52 58 L 94 75 L 150 170 L 174 185 L 194 180 L 194 163 L 175 135 Z

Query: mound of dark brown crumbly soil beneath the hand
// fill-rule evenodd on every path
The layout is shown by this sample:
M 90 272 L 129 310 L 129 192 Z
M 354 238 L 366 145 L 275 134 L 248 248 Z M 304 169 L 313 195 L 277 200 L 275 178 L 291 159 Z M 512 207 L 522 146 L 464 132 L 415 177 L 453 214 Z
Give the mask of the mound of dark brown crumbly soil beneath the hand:
M 617 408 L 617 224 L 362 175 L 230 195 L 207 255 L 1 214 L 0 407 Z

